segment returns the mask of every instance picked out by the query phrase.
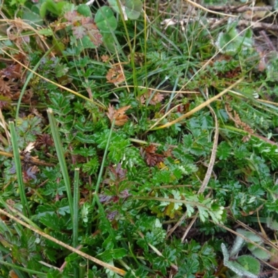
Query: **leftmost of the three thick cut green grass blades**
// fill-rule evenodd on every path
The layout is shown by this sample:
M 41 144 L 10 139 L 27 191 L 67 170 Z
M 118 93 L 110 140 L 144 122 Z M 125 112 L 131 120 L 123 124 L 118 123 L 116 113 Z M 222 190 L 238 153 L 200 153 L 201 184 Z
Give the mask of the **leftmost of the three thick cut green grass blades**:
M 18 182 L 20 200 L 23 206 L 23 214 L 25 216 L 27 215 L 31 216 L 31 211 L 28 206 L 27 198 L 25 195 L 24 182 L 22 179 L 22 164 L 20 162 L 20 154 L 17 145 L 17 133 L 15 132 L 15 123 L 9 122 L 9 124 L 10 124 L 10 140 L 12 141 L 12 145 L 13 145 L 13 157 L 15 159 L 15 170 L 17 173 L 17 182 Z

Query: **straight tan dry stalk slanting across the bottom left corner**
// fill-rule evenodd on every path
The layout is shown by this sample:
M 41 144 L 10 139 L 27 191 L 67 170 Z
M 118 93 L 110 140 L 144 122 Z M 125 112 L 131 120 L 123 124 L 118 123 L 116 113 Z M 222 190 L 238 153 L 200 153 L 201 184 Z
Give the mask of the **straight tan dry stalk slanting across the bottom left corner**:
M 124 276 L 126 274 L 126 272 L 124 270 L 120 269 L 120 268 L 116 268 L 113 265 L 110 265 L 108 263 L 104 263 L 104 261 L 100 261 L 99 259 L 96 259 L 93 256 L 85 254 L 84 252 L 82 252 L 80 250 L 77 250 L 76 248 L 63 243 L 60 240 L 57 240 L 56 238 L 54 238 L 52 236 L 49 236 L 48 234 L 45 234 L 43 231 L 39 231 L 38 229 L 35 229 L 35 228 L 31 227 L 31 225 L 26 224 L 22 220 L 17 219 L 15 216 L 11 215 L 10 213 L 7 213 L 6 211 L 3 211 L 3 209 L 1 209 L 1 208 L 0 208 L 0 213 L 3 213 L 3 215 L 8 216 L 8 218 L 10 218 L 10 219 L 14 220 L 15 222 L 21 224 L 22 226 L 26 227 L 27 229 L 31 229 L 32 231 L 39 234 L 40 236 L 43 236 L 44 238 L 47 238 L 48 240 L 51 240 L 52 242 L 66 248 L 67 250 L 70 250 L 71 252 L 74 252 L 74 253 L 78 254 L 79 256 L 83 256 L 83 258 L 88 259 L 89 261 L 97 263 L 98 265 L 101 265 L 104 268 L 108 268 L 108 270 L 112 270 L 113 272 L 117 273 L 118 275 Z

